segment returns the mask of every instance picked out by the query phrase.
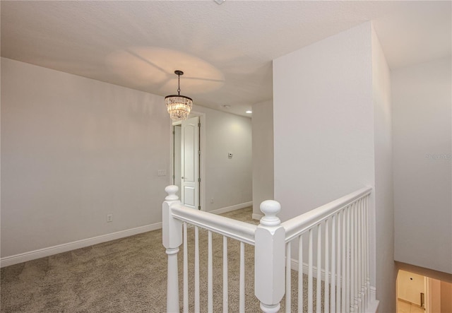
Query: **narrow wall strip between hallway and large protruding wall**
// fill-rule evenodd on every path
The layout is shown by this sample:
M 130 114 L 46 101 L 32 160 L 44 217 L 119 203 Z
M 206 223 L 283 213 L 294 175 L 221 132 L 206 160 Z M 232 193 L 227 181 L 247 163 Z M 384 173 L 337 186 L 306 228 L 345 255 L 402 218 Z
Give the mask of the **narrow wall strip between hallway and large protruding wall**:
M 263 215 L 262 201 L 273 200 L 273 100 L 253 105 L 253 215 Z

